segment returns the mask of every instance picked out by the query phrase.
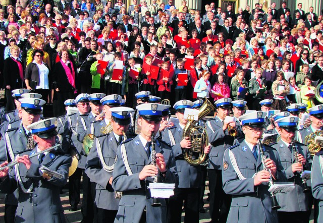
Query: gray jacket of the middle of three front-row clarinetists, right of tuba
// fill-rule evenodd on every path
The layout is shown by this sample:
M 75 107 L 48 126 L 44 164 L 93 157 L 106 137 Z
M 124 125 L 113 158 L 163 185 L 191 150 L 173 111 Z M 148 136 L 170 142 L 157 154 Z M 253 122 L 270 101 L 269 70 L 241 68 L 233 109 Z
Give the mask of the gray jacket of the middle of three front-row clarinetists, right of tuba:
M 246 179 L 238 178 L 229 157 L 229 150 L 233 152 L 238 168 Z M 278 152 L 270 146 L 265 146 L 265 155 L 274 160 L 277 165 L 277 181 L 286 181 Z M 232 195 L 227 222 L 278 222 L 277 211 L 271 208 L 268 184 L 254 186 L 252 177 L 263 170 L 260 153 L 256 160 L 246 142 L 243 141 L 225 151 L 223 166 L 223 189 L 226 194 Z

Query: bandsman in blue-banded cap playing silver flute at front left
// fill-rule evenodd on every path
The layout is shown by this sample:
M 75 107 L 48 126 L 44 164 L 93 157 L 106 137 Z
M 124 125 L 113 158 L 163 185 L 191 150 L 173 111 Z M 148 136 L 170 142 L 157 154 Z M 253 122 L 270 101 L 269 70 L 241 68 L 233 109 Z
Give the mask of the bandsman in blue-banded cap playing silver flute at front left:
M 12 193 L 18 188 L 15 222 L 65 222 L 60 187 L 67 183 L 72 158 L 64 155 L 61 149 L 46 151 L 32 158 L 28 156 L 55 145 L 57 135 L 55 121 L 56 118 L 50 118 L 28 125 L 28 132 L 33 134 L 33 140 L 37 145 L 31 151 L 21 150 L 22 153 L 16 159 L 19 164 L 10 175 L 9 168 L 0 172 L 1 192 Z M 25 147 L 17 148 L 25 149 Z M 8 162 L 0 166 L 6 163 Z M 41 166 L 61 174 L 62 178 L 46 175 L 40 170 Z

